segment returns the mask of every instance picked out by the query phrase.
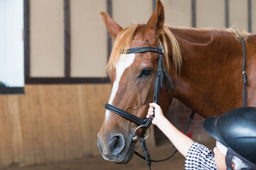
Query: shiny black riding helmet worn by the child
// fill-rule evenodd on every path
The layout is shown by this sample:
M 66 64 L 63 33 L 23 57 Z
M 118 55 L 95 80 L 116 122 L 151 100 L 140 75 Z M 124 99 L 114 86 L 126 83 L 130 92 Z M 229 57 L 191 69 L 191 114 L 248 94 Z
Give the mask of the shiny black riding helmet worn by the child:
M 256 169 L 256 108 L 234 108 L 220 117 L 207 118 L 203 128 L 228 148 L 228 169 L 232 169 L 233 156 Z

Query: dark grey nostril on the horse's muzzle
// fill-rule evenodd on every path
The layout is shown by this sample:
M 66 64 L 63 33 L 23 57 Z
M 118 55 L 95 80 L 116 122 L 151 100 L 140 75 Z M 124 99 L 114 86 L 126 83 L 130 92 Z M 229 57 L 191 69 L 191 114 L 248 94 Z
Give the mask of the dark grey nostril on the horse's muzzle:
M 124 136 L 119 134 L 112 137 L 109 142 L 109 149 L 112 154 L 119 154 L 124 149 Z

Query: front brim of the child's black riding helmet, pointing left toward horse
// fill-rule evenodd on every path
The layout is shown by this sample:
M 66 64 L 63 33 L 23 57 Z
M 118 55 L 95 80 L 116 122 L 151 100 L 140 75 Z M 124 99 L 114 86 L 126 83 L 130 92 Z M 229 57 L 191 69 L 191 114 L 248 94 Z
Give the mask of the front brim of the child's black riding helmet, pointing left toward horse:
M 223 138 L 220 136 L 218 126 L 215 123 L 217 118 L 218 117 L 215 116 L 206 118 L 206 120 L 203 121 L 203 128 L 211 137 L 213 137 L 215 140 L 218 140 L 220 143 L 225 145 L 225 147 L 228 147 Z

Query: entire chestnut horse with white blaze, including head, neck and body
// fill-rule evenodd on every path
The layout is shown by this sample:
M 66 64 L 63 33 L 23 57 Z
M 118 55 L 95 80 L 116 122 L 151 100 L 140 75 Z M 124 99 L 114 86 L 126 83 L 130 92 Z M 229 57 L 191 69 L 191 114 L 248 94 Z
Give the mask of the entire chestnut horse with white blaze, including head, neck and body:
M 175 90 L 164 86 L 159 92 L 159 105 L 164 112 L 174 98 L 203 118 L 242 106 L 241 38 L 245 40 L 246 50 L 247 106 L 256 106 L 256 35 L 232 28 L 167 26 L 160 0 L 145 25 L 138 23 L 122 28 L 107 13 L 100 14 L 114 41 L 106 67 L 112 85 L 108 103 L 112 106 L 146 118 L 153 98 L 159 54 L 128 54 L 127 49 L 158 47 L 159 43 L 164 49 L 166 71 L 175 85 Z M 102 157 L 127 164 L 134 153 L 132 137 L 136 128 L 136 123 L 106 111 L 97 135 Z

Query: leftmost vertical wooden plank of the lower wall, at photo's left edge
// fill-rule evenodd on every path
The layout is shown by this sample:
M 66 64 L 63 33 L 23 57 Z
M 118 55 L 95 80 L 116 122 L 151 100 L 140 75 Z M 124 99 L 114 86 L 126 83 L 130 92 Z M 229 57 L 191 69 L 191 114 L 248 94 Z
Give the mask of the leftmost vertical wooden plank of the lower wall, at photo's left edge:
M 7 98 L 6 96 L 0 96 L 0 167 L 9 166 L 13 158 L 11 150 L 11 130 L 7 114 Z

